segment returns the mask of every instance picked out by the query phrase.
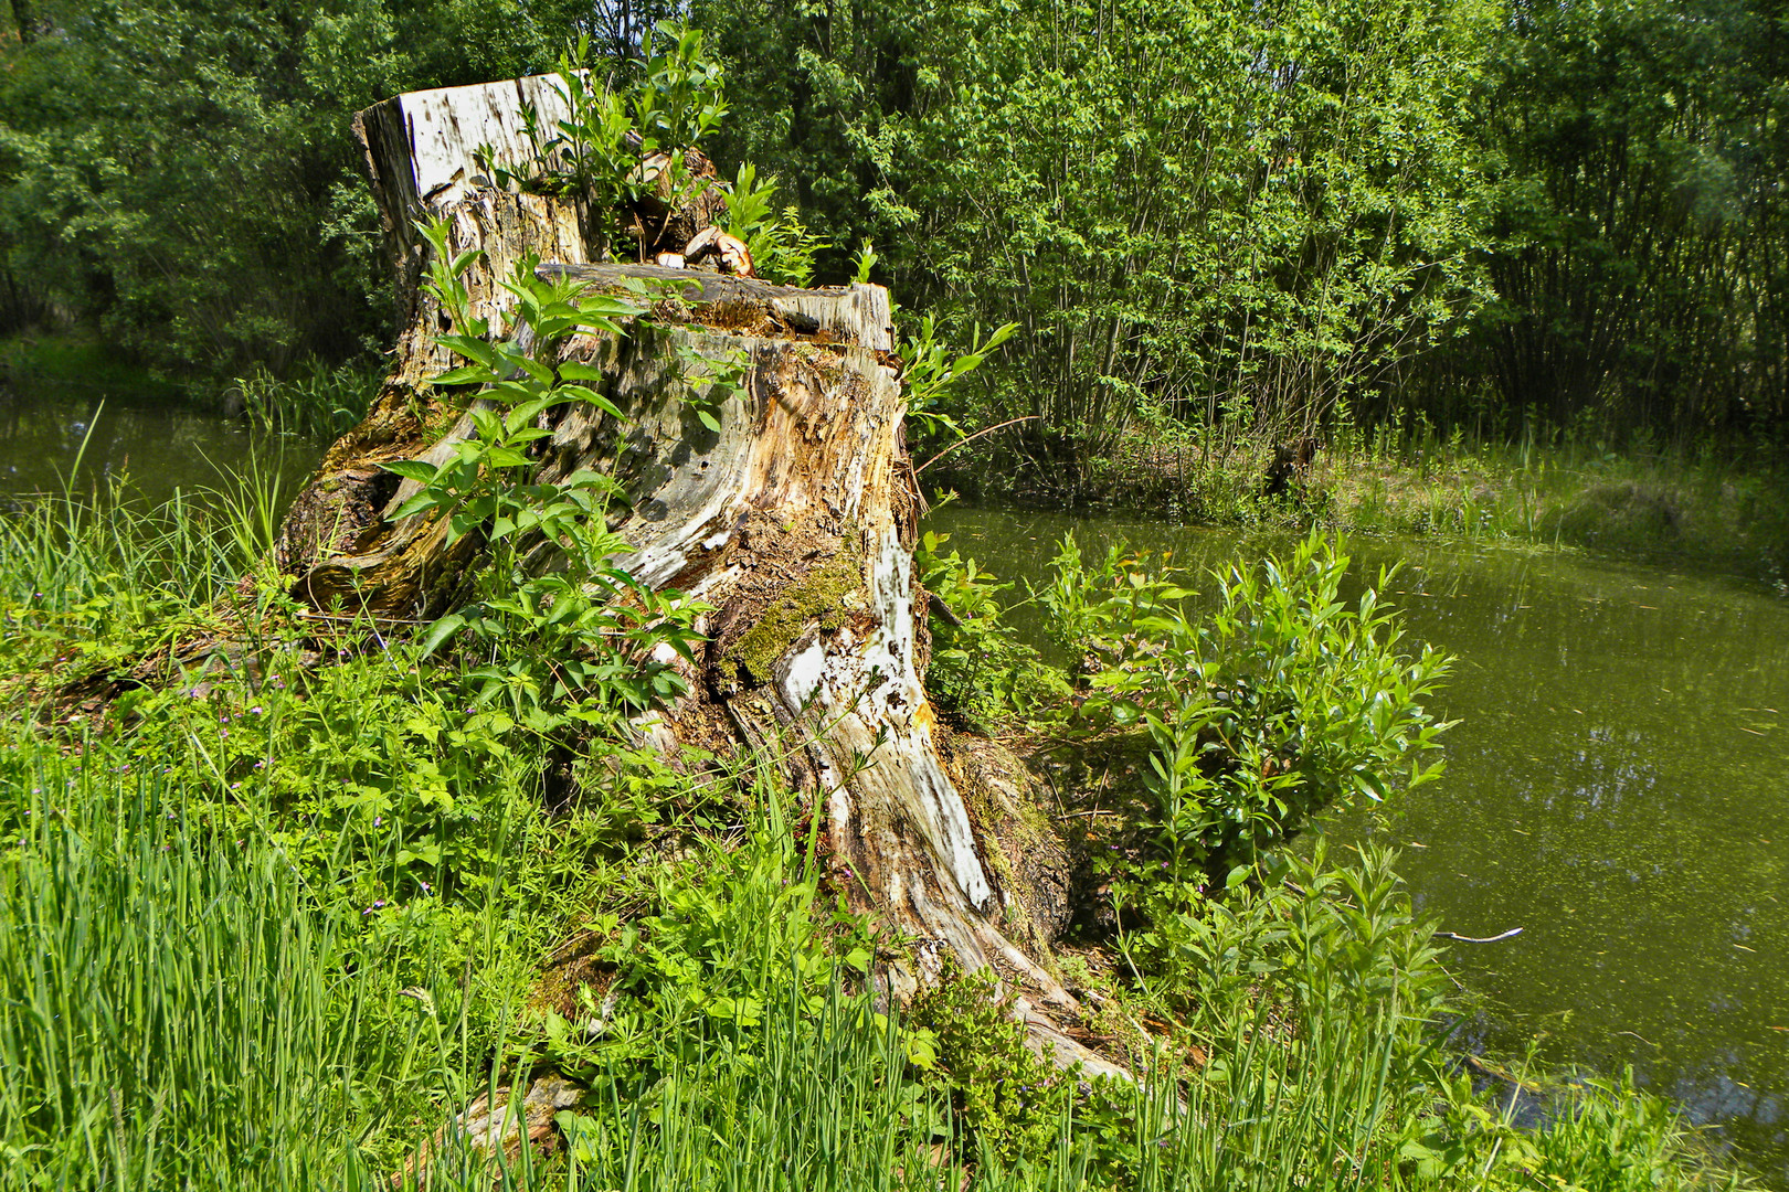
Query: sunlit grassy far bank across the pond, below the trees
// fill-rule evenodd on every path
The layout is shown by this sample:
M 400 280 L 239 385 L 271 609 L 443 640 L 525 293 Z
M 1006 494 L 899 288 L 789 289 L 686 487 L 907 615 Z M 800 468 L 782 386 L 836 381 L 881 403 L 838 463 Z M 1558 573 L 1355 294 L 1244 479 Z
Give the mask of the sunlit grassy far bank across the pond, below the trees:
M 1707 567 L 1789 592 L 1789 472 L 1769 445 L 1610 450 L 1598 441 L 1474 441 L 1345 429 L 1270 493 L 1276 443 L 1136 431 L 1084 472 L 966 449 L 928 486 L 1206 525 L 1320 525 L 1360 534 L 1506 540 Z M 1072 481 L 1072 491 L 1050 483 Z

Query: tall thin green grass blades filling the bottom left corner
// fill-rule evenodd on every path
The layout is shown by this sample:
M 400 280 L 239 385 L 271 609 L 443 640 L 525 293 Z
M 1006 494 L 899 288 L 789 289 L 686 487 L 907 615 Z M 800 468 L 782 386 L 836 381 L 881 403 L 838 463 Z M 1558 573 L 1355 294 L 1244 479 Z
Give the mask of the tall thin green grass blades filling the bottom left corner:
M 286 1187 L 338 1162 L 329 1122 L 394 1067 L 358 1054 L 340 931 L 276 849 L 161 777 L 82 770 L 13 776 L 41 793 L 9 808 L 0 870 L 0 1147 L 41 1187 Z

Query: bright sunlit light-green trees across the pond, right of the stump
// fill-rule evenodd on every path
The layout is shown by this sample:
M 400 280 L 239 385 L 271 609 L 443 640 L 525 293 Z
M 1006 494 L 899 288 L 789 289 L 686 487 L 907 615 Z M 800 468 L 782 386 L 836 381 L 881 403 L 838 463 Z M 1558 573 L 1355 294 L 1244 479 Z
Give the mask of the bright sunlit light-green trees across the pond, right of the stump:
M 1140 407 L 1308 431 L 1472 302 L 1462 114 L 1488 13 L 923 9 L 723 48 L 750 152 L 857 197 L 809 191 L 835 241 L 875 236 L 896 290 L 957 325 L 1022 323 L 980 418 L 1034 415 L 1070 459 Z

